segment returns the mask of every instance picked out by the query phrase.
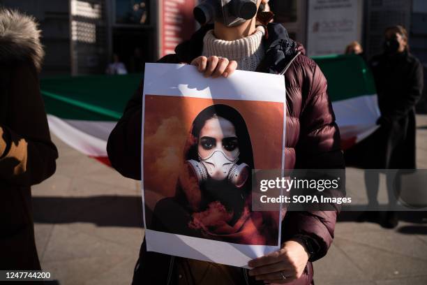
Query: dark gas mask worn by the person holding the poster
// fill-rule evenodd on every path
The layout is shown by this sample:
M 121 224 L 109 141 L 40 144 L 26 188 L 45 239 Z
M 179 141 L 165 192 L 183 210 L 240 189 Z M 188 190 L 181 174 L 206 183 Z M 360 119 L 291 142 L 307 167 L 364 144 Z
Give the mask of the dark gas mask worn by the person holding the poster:
M 235 27 L 257 15 L 257 0 L 204 0 L 193 13 L 202 25 L 216 21 Z

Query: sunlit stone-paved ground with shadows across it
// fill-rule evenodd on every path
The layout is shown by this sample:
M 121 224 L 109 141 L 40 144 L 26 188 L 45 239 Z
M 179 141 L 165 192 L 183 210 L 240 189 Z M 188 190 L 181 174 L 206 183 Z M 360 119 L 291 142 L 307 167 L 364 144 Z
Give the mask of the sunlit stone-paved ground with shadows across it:
M 427 116 L 418 123 L 418 163 L 427 169 Z M 55 142 L 57 173 L 33 188 L 43 268 L 61 285 L 130 284 L 143 235 L 139 183 Z M 348 178 L 363 198 L 361 175 L 352 170 Z M 385 197 L 382 191 L 380 200 Z M 402 215 L 406 221 L 397 229 L 385 230 L 354 218 L 341 216 L 334 245 L 315 263 L 317 285 L 427 284 L 427 219 Z

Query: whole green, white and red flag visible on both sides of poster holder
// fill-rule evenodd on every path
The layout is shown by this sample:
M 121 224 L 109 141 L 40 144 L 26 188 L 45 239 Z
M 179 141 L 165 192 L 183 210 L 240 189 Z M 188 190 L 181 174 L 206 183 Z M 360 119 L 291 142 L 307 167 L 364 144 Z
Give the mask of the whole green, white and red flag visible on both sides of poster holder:
M 377 129 L 380 117 L 373 78 L 361 57 L 316 57 L 349 149 Z M 107 139 L 141 75 L 95 75 L 41 80 L 50 131 L 70 147 L 110 165 Z

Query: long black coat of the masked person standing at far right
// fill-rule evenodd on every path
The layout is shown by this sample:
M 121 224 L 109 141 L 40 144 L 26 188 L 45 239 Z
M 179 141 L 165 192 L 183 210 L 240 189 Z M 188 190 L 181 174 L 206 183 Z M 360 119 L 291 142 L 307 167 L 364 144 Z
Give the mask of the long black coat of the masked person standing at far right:
M 424 85 L 423 66 L 409 52 L 381 54 L 370 61 L 382 117 L 373 134 L 371 168 L 414 169 L 416 166 L 415 105 Z

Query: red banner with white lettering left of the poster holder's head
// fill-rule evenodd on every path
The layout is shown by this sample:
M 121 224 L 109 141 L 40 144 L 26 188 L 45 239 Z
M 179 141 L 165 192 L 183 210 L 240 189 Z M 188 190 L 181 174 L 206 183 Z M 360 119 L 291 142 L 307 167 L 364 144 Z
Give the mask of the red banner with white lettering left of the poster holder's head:
M 175 47 L 194 33 L 193 9 L 196 3 L 197 0 L 158 1 L 159 58 L 175 53 Z

